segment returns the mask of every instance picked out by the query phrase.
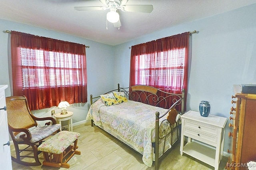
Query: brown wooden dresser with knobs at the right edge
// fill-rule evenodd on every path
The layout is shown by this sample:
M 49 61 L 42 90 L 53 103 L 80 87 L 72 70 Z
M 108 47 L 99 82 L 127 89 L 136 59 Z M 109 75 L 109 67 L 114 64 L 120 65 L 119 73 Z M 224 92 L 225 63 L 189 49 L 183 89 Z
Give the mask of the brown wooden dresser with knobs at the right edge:
M 234 85 L 234 92 L 228 133 L 230 156 L 226 169 L 248 170 L 247 162 L 256 161 L 256 94 L 241 93 L 240 85 Z

